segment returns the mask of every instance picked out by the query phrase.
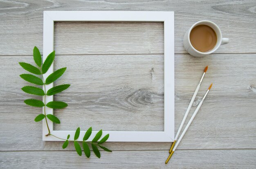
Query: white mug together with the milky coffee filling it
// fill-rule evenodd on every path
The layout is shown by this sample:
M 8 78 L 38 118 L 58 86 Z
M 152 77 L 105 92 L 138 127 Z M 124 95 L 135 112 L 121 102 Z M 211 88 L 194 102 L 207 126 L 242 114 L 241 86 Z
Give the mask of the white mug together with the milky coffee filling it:
M 215 52 L 221 44 L 229 43 L 229 38 L 222 38 L 220 28 L 213 22 L 196 22 L 185 33 L 183 45 L 193 56 L 207 56 Z

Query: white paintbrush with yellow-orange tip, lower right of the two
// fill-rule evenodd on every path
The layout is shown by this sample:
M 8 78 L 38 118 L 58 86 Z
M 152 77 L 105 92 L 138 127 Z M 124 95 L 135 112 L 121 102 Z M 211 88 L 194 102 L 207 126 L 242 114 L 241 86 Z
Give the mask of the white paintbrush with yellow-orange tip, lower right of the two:
M 200 103 L 198 104 L 198 107 L 195 109 L 195 112 L 193 113 L 193 115 L 191 116 L 189 123 L 186 125 L 184 131 L 182 132 L 182 134 L 180 135 L 179 140 L 177 141 L 177 143 L 175 144 L 175 146 L 173 147 L 173 150 L 171 151 L 171 154 L 168 156 L 165 164 L 167 164 L 167 162 L 170 160 L 171 156 L 173 155 L 174 151 L 176 150 L 176 148 L 178 147 L 178 145 L 180 144 L 180 141 L 182 140 L 183 136 L 185 135 L 186 131 L 188 130 L 189 126 L 191 125 L 193 119 L 195 118 L 195 115 L 198 113 L 199 109 L 202 106 L 202 103 L 204 102 L 205 97 L 207 96 L 208 92 L 210 91 L 212 86 L 212 83 L 210 85 L 210 87 L 208 88 L 207 92 L 204 94 L 203 99 L 200 101 Z

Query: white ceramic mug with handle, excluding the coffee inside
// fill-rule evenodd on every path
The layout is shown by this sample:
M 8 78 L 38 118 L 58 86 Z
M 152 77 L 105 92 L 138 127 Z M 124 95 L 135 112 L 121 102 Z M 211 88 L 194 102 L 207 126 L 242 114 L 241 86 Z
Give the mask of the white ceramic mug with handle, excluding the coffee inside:
M 191 42 L 190 42 L 190 39 L 189 39 L 189 35 L 190 35 L 190 32 L 191 30 L 195 27 L 195 26 L 198 26 L 198 25 L 207 25 L 207 26 L 210 26 L 215 32 L 216 32 L 216 35 L 217 35 L 217 42 L 216 42 L 216 45 L 214 46 L 213 49 L 211 49 L 210 51 L 208 52 L 200 52 L 198 50 L 196 50 Z M 220 31 L 220 28 L 213 22 L 211 21 L 208 21 L 208 20 L 202 20 L 202 21 L 199 21 L 199 22 L 196 22 L 195 24 L 193 24 L 191 26 L 191 28 L 185 33 L 184 35 L 184 39 L 183 39 L 183 45 L 186 49 L 186 51 L 192 55 L 192 56 L 197 56 L 197 57 L 202 57 L 202 56 L 207 56 L 213 52 L 215 52 L 221 44 L 227 44 L 229 43 L 229 38 L 222 38 L 222 34 L 221 34 L 221 31 Z

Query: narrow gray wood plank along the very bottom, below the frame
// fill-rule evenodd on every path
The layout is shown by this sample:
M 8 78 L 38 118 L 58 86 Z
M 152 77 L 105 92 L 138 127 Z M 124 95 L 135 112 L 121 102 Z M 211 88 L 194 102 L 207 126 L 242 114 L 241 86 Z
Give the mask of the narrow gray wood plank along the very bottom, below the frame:
M 232 168 L 254 169 L 256 150 L 177 150 L 165 165 L 168 151 L 113 151 L 94 154 L 87 159 L 75 151 L 14 151 L 0 152 L 2 169 L 162 169 L 162 168 Z M 53 160 L 54 159 L 54 160 Z

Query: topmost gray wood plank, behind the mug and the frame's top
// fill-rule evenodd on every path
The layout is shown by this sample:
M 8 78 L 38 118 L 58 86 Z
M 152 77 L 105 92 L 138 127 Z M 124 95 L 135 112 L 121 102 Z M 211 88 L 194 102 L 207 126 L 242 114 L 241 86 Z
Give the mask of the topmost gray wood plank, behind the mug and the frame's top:
M 34 46 L 38 46 L 42 50 L 43 46 L 43 11 L 44 10 L 120 10 L 120 11 L 175 11 L 175 53 L 186 53 L 183 48 L 182 39 L 186 30 L 199 20 L 211 20 L 220 26 L 223 37 L 229 37 L 230 43 L 221 46 L 217 53 L 256 53 L 255 40 L 256 34 L 256 18 L 255 18 L 256 2 L 254 0 L 245 1 L 207 1 L 204 3 L 190 1 L 145 1 L 138 0 L 136 2 L 126 1 L 34 1 L 34 0 L 18 0 L 18 1 L 1 1 L 0 2 L 0 55 L 31 55 Z M 148 33 L 150 29 L 141 30 L 134 25 L 135 29 L 132 29 L 128 24 L 121 32 L 126 36 L 134 33 L 134 30 L 138 32 L 138 40 L 133 41 L 135 37 L 132 37 L 132 43 L 125 43 L 128 40 L 120 37 L 115 40 L 115 43 L 108 43 L 106 46 L 110 46 L 105 54 L 126 54 L 126 53 L 159 53 L 162 51 L 162 45 L 160 48 L 154 46 L 148 47 L 148 44 L 154 44 L 150 39 Z M 77 42 L 83 39 L 77 39 L 77 37 L 84 37 L 85 33 L 80 32 L 81 26 L 79 23 L 64 25 L 66 31 L 74 29 L 76 35 L 75 38 L 70 39 L 73 42 L 68 48 L 58 49 L 58 54 L 72 53 L 72 54 L 97 54 L 101 52 L 101 42 L 111 42 L 111 37 L 108 39 L 102 38 L 101 42 L 96 44 L 92 37 L 87 37 L 90 42 L 85 44 L 79 44 Z M 109 35 L 111 26 L 103 27 L 99 35 Z M 94 29 L 91 26 L 90 29 Z M 100 29 L 100 28 L 98 28 Z M 116 29 L 116 28 L 112 28 Z M 120 33 L 121 33 L 120 32 Z M 59 37 L 58 37 L 59 38 Z M 97 39 L 98 40 L 98 39 Z M 147 40 L 146 42 L 144 40 Z M 148 41 L 149 40 L 149 41 Z M 119 43 L 117 42 L 119 41 Z M 65 37 L 60 39 L 63 46 L 67 46 L 67 39 Z M 141 48 L 138 48 L 135 44 L 141 44 Z M 116 45 L 115 45 L 116 44 Z M 127 50 L 117 50 L 118 44 L 126 44 Z M 58 46 L 60 47 L 60 46 Z M 76 48 L 76 50 L 73 50 Z M 90 49 L 85 50 L 85 48 Z M 134 50 L 133 48 L 137 49 Z M 131 49 L 131 50 L 130 50 Z M 150 49 L 150 50 L 148 50 Z

